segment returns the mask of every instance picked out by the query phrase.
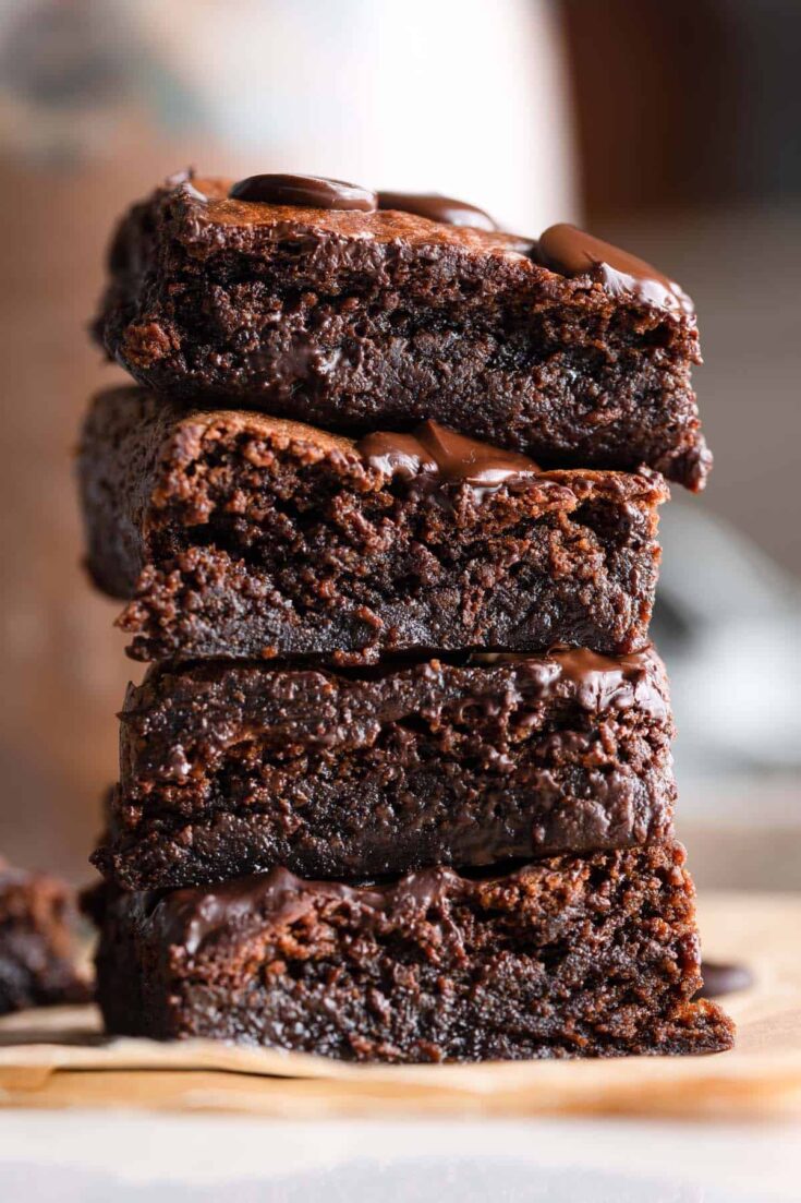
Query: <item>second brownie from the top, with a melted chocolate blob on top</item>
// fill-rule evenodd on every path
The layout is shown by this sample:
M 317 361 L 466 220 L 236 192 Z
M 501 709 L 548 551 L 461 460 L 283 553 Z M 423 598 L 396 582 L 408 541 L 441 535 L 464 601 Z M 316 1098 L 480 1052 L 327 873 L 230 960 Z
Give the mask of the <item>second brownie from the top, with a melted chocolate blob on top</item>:
M 354 444 L 118 389 L 79 472 L 89 569 L 132 599 L 138 659 L 647 639 L 666 497 L 649 469 L 541 472 L 437 423 Z

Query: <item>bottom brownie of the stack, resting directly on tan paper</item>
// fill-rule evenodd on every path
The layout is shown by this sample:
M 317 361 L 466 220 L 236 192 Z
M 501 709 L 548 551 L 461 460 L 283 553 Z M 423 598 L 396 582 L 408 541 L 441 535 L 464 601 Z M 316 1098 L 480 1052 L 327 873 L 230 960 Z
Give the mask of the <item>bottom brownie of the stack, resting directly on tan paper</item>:
M 286 870 L 97 901 L 107 1030 L 355 1061 L 712 1053 L 678 845 L 384 884 Z

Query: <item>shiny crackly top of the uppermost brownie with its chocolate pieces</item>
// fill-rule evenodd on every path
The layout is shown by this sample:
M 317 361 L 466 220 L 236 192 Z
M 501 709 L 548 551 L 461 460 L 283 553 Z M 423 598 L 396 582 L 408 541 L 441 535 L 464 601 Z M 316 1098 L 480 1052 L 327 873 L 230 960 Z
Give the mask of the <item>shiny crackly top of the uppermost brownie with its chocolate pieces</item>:
M 693 320 L 693 302 L 678 284 L 643 260 L 566 223 L 550 226 L 539 239 L 526 238 L 497 230 L 482 209 L 451 197 L 374 192 L 313 176 L 254 176 L 232 182 L 180 172 L 156 191 L 155 198 L 177 221 L 173 232 L 197 244 L 214 244 L 220 236 L 226 243 L 244 243 L 250 232 L 271 241 L 305 235 L 402 244 L 411 250 L 435 247 L 491 254 L 527 265 L 532 277 L 575 279 L 585 288 L 600 286 L 615 297 L 628 294 L 639 303 Z M 124 265 L 112 254 L 111 266 L 119 269 Z

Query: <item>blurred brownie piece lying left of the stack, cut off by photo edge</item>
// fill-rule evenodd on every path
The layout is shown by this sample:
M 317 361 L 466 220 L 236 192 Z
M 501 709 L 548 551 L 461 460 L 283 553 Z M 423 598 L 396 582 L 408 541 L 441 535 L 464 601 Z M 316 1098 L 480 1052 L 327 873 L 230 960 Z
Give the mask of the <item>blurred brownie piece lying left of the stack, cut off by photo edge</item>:
M 89 985 L 75 964 L 73 912 L 61 882 L 0 858 L 0 1015 L 88 1001 Z

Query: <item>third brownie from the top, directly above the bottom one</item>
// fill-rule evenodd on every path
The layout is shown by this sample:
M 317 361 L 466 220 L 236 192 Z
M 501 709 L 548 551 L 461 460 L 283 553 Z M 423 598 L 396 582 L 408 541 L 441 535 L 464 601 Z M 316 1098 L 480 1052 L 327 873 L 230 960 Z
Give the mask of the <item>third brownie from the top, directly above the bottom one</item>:
M 622 848 L 670 832 L 652 648 L 356 672 L 152 668 L 120 716 L 93 858 L 124 889 L 284 865 L 352 879 Z

